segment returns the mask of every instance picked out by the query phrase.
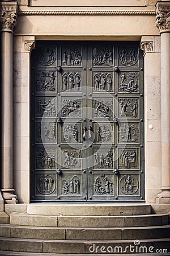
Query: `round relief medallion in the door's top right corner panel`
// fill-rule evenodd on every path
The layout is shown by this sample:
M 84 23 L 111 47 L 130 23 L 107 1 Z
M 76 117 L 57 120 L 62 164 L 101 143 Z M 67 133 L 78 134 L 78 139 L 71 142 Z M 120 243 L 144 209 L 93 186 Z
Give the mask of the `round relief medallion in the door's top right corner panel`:
M 127 67 L 135 65 L 138 61 L 138 52 L 132 48 L 121 49 L 118 56 L 121 64 Z

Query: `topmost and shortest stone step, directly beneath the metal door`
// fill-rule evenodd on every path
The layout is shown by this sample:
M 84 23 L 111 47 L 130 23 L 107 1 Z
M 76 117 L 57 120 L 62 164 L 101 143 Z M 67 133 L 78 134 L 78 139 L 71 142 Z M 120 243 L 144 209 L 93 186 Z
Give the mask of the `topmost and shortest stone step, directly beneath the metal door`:
M 147 204 L 28 204 L 28 214 L 62 216 L 120 216 L 151 213 Z

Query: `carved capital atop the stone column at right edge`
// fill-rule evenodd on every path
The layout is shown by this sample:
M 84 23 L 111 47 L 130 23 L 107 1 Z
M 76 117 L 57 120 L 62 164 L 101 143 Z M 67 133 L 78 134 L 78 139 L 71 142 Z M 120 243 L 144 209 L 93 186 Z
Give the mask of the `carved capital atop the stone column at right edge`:
M 170 32 L 170 2 L 156 4 L 156 26 L 160 33 Z

